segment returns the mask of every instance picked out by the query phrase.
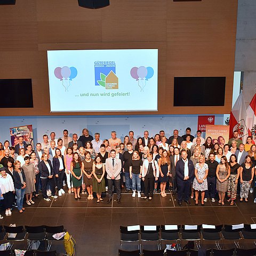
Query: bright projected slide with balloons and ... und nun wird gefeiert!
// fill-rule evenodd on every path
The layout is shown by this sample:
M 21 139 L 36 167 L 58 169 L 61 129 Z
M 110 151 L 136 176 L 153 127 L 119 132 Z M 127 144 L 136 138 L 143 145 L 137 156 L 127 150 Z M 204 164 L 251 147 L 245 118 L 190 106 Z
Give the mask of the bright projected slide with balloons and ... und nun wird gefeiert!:
M 52 112 L 156 111 L 157 49 L 47 51 Z

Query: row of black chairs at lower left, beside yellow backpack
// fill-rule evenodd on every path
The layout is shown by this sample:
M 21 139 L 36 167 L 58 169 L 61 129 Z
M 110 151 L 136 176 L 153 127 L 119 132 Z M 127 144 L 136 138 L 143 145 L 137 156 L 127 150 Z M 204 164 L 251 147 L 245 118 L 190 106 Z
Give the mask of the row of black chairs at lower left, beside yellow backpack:
M 63 237 L 60 239 L 53 238 L 53 234 L 65 233 L 63 226 L 0 226 L 0 240 L 10 243 L 6 250 L 10 250 L 14 242 L 25 241 L 28 243 L 28 250 L 31 250 L 33 244 L 37 241 L 45 242 L 47 246 L 46 251 L 50 251 L 51 245 L 54 241 L 63 244 Z M 46 247 L 45 246 L 45 247 Z

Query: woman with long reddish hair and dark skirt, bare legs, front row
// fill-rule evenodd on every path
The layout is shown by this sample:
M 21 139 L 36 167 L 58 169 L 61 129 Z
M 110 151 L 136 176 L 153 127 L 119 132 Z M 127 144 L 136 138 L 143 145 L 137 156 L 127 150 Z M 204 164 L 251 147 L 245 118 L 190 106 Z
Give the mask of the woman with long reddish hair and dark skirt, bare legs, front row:
M 169 182 L 170 169 L 171 169 L 170 157 L 166 149 L 163 150 L 162 156 L 161 158 L 159 158 L 158 165 L 159 165 L 159 172 L 160 172 L 159 182 L 160 182 L 161 196 L 165 197 L 166 183 Z

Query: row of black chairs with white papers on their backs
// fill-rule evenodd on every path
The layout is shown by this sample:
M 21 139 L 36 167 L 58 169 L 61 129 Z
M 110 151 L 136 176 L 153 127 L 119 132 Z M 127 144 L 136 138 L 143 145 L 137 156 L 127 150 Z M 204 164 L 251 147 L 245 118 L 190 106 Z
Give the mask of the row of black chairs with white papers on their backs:
M 157 242 L 158 250 L 161 249 L 162 241 L 176 241 L 178 249 L 181 250 L 181 240 L 195 241 L 197 249 L 200 247 L 200 241 L 215 241 L 217 249 L 221 249 L 222 239 L 234 240 L 239 248 L 239 239 L 255 239 L 255 224 L 238 225 L 161 225 L 161 226 L 120 226 L 120 249 L 124 242 L 137 242 L 138 249 L 141 251 L 141 242 Z M 256 245 L 256 242 L 254 241 Z

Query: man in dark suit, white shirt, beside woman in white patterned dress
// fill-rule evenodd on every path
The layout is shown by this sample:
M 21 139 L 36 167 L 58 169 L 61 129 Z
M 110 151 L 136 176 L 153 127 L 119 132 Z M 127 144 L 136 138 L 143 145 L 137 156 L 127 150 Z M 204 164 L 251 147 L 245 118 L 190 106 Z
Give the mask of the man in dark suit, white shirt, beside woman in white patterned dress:
M 178 203 L 182 206 L 182 196 L 187 204 L 189 202 L 189 188 L 195 177 L 195 168 L 193 162 L 187 158 L 186 150 L 181 150 L 181 159 L 176 164 L 176 177 L 178 186 Z

